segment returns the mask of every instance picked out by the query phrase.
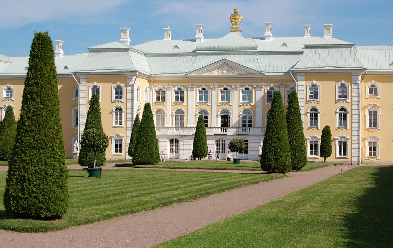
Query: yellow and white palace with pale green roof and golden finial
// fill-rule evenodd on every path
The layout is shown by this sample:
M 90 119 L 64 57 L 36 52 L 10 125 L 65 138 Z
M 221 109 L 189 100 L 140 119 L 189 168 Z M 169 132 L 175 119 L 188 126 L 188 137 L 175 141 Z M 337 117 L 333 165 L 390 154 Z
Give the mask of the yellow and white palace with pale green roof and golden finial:
M 239 138 L 246 144 L 239 158 L 257 160 L 274 92 L 286 107 L 297 91 L 309 161 L 323 161 L 320 138 L 329 125 L 328 161 L 392 163 L 393 46 L 336 39 L 332 24 L 323 25 L 323 37 L 312 36 L 311 25 L 301 37 L 274 37 L 266 22 L 262 37 L 245 38 L 241 20 L 235 9 L 228 34 L 218 39 L 205 39 L 197 24 L 193 39 L 173 40 L 167 27 L 162 40 L 136 46 L 130 28 L 121 28 L 119 41 L 85 54 L 64 55 L 63 41 L 55 41 L 66 157 L 77 157 L 89 100 L 98 94 L 108 158 L 129 159 L 134 118 L 150 102 L 167 157 L 189 158 L 202 115 L 213 156 Z M 19 117 L 28 59 L 0 55 L 2 118 L 6 107 Z

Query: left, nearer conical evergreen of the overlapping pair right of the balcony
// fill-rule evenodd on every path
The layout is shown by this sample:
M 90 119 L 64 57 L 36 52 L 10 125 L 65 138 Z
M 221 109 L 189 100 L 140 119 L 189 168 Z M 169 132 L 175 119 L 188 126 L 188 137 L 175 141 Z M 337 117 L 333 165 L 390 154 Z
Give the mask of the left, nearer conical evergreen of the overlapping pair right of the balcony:
M 283 98 L 279 91 L 274 93 L 269 120 L 266 125 L 261 168 L 267 172 L 283 174 L 292 169 Z

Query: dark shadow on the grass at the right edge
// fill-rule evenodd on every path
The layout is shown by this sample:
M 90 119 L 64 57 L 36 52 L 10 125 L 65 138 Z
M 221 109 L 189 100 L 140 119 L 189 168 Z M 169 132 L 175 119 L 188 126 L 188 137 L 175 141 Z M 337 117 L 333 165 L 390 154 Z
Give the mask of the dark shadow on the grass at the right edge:
M 393 168 L 378 167 L 372 174 L 374 187 L 354 200 L 354 212 L 343 216 L 345 247 L 392 247 Z

